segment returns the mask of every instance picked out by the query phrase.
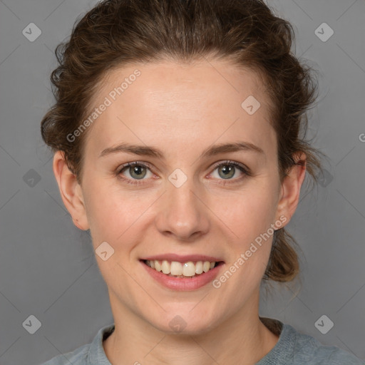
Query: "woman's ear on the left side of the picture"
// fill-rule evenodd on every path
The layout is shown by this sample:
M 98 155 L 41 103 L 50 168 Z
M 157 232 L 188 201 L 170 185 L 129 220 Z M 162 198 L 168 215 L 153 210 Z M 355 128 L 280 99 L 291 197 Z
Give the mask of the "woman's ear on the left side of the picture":
M 81 185 L 76 176 L 68 169 L 68 165 L 61 151 L 53 157 L 53 173 L 56 177 L 63 204 L 71 214 L 73 224 L 80 230 L 88 230 L 88 220 L 83 200 Z

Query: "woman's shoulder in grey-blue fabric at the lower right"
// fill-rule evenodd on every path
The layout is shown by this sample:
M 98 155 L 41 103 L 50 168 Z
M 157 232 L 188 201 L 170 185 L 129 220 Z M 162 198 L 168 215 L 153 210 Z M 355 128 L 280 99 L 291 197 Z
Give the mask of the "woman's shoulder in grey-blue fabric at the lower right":
M 344 349 L 337 346 L 325 346 L 308 334 L 303 334 L 289 324 L 284 324 L 286 330 L 295 338 L 292 359 L 294 364 L 309 365 L 364 365 L 361 361 Z

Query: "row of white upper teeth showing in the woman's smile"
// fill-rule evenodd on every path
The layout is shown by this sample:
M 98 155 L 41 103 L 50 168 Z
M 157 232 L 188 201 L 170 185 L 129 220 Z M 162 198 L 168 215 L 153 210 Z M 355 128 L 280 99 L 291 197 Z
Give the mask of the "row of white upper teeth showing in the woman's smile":
M 171 275 L 183 275 L 185 277 L 193 277 L 195 274 L 202 274 L 202 272 L 208 272 L 210 269 L 215 267 L 215 261 L 198 261 L 198 262 L 178 262 L 178 261 L 167 261 L 162 262 L 155 260 L 146 260 L 146 264 L 152 269 L 162 271 L 164 274 Z

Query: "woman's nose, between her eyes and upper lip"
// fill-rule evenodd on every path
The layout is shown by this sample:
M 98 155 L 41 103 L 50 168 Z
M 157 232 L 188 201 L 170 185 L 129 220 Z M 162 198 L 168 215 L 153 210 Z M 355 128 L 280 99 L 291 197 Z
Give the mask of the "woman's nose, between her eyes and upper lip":
M 162 195 L 155 225 L 163 235 L 175 236 L 175 240 L 192 242 L 205 235 L 210 227 L 209 209 L 195 188 L 192 179 L 180 187 L 167 182 Z

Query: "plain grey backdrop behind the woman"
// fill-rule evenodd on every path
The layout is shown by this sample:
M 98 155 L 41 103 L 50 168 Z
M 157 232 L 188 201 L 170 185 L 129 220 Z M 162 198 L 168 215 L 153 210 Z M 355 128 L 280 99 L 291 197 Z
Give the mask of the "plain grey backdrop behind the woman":
M 53 102 L 53 49 L 93 4 L 0 0 L 1 365 L 40 364 L 91 342 L 113 322 L 90 237 L 63 207 L 39 131 Z M 309 136 L 329 162 L 327 180 L 302 192 L 289 223 L 302 248 L 302 290 L 295 295 L 277 287 L 262 297 L 260 314 L 365 359 L 365 4 L 269 4 L 294 25 L 297 55 L 319 71 L 320 101 L 310 114 Z M 31 22 L 42 32 L 34 42 L 22 34 Z M 323 22 L 334 30 L 325 42 L 314 33 Z M 334 322 L 327 334 L 314 326 L 323 314 Z M 30 315 L 41 322 L 34 334 L 22 325 Z

